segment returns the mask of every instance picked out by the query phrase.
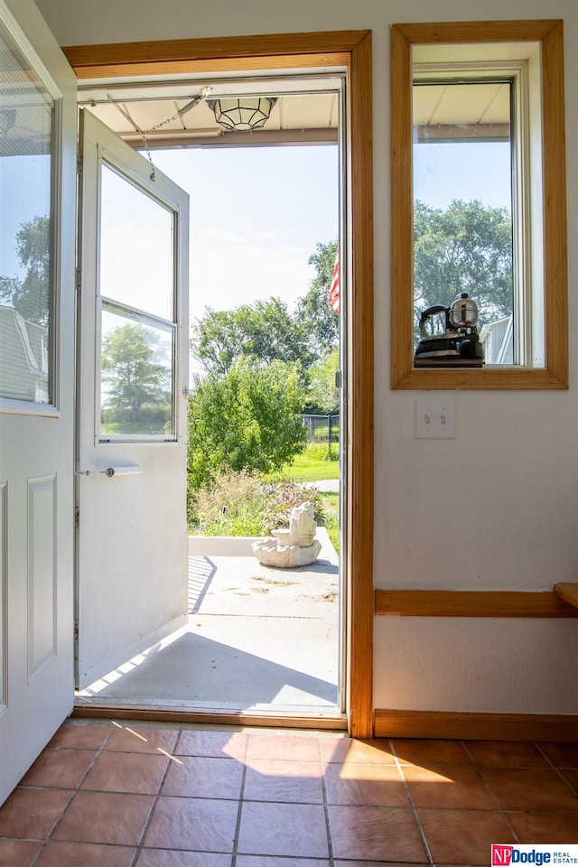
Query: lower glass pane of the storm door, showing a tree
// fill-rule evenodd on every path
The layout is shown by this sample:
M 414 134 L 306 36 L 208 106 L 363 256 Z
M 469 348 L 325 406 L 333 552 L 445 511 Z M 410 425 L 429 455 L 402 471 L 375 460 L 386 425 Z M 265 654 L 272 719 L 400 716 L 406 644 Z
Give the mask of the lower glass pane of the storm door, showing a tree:
M 100 436 L 173 434 L 174 329 L 103 304 Z

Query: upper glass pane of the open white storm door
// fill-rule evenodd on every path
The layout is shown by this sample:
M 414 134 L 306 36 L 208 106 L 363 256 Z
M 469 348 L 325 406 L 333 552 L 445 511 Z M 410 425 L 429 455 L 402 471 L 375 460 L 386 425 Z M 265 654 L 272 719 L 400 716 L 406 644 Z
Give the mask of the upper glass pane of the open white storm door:
M 172 212 L 102 167 L 100 294 L 172 321 Z

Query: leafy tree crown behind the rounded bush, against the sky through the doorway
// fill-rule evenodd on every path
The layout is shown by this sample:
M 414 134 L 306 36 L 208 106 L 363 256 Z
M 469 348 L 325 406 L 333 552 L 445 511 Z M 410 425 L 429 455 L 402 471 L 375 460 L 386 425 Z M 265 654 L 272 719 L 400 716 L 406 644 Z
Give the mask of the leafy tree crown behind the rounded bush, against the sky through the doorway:
M 274 297 L 231 311 L 207 308 L 195 324 L 191 349 L 202 366 L 214 374 L 227 373 L 241 356 L 261 364 L 301 361 L 305 368 L 312 360 L 303 325 Z

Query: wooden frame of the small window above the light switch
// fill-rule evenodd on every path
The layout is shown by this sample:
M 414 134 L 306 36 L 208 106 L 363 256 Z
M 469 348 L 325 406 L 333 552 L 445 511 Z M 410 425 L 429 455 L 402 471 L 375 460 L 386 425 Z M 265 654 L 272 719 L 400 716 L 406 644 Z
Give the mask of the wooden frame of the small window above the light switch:
M 568 387 L 567 240 L 563 22 L 491 21 L 394 24 L 391 28 L 391 387 L 545 389 Z M 544 192 L 545 367 L 413 366 L 414 200 L 412 46 L 540 42 Z

